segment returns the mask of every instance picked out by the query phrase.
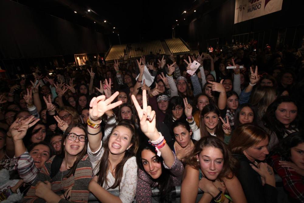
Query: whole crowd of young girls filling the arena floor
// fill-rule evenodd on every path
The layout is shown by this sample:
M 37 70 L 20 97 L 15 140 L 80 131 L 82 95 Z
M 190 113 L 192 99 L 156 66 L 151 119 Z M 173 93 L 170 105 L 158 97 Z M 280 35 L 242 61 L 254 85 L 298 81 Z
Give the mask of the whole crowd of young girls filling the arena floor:
M 2 79 L 0 169 L 19 181 L 0 200 L 175 202 L 180 186 L 181 202 L 304 202 L 304 57 L 262 70 L 240 52 Z

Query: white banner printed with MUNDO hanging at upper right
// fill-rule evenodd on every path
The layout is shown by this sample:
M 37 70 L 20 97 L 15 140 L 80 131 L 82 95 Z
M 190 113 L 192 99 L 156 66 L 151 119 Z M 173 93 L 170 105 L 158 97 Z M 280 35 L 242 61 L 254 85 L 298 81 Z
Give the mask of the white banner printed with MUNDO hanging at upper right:
M 234 24 L 282 10 L 283 0 L 235 0 Z

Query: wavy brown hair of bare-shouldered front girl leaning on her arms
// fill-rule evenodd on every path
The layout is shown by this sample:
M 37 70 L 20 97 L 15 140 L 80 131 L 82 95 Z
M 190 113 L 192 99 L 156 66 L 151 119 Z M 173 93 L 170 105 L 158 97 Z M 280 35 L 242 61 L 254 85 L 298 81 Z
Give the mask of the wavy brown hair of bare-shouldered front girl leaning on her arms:
M 223 168 L 217 178 L 221 180 L 223 178 L 232 179 L 236 171 L 237 160 L 233 158 L 227 145 L 215 136 L 203 137 L 199 141 L 195 142 L 193 151 L 191 152 L 190 156 L 188 156 L 185 160 L 186 164 L 199 170 L 200 165 L 197 161 L 197 155 L 199 155 L 199 153 L 201 153 L 206 147 L 218 148 L 223 153 Z

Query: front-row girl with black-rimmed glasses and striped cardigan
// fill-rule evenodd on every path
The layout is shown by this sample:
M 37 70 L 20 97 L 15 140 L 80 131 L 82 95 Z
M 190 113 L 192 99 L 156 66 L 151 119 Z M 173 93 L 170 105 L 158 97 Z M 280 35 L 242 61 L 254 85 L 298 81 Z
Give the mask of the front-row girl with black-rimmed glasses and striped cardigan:
M 85 155 L 87 138 L 81 124 L 70 125 L 62 138 L 61 154 L 44 164 L 23 201 L 88 202 L 92 165 Z

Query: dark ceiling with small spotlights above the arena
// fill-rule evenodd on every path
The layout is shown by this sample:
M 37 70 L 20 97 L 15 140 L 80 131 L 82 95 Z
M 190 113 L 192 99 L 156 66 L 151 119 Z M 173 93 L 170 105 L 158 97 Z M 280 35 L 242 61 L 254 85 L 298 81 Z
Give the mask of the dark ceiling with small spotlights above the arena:
M 189 23 L 209 5 L 208 0 L 14 1 L 29 6 L 37 12 L 48 13 L 104 33 L 112 44 L 118 44 L 119 38 L 121 43 L 171 38 L 174 26 Z M 88 12 L 88 9 L 91 12 Z M 198 11 L 194 12 L 194 10 Z M 183 13 L 184 11 L 187 13 Z

